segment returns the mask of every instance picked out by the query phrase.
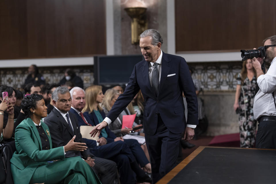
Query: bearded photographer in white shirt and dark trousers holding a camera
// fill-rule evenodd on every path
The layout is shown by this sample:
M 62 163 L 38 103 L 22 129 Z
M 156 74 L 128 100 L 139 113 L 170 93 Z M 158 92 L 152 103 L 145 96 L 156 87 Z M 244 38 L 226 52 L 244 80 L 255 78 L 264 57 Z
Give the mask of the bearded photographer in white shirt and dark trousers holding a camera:
M 251 59 L 257 73 L 256 93 L 253 104 L 254 118 L 258 120 L 256 148 L 275 149 L 276 146 L 276 35 L 264 39 L 265 57 Z M 261 65 L 263 60 L 270 65 L 266 74 Z

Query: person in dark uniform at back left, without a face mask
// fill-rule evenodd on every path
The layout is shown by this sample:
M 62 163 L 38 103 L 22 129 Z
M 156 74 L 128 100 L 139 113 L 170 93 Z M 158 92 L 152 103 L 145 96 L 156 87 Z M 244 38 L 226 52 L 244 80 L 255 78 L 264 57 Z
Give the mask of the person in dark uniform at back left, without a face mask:
M 29 75 L 25 79 L 24 85 L 27 85 L 29 83 L 38 84 L 39 86 L 45 85 L 45 79 L 41 74 L 39 74 L 38 68 L 35 64 L 32 64 L 28 68 L 28 72 L 29 72 Z

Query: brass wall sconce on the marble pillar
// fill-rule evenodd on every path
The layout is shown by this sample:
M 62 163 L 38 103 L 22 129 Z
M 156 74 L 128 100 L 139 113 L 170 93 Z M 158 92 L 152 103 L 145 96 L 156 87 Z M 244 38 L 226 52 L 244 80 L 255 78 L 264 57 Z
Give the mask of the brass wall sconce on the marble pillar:
M 131 17 L 131 44 L 139 44 L 140 34 L 147 29 L 147 21 L 143 14 L 147 8 L 131 7 L 125 8 L 127 14 Z

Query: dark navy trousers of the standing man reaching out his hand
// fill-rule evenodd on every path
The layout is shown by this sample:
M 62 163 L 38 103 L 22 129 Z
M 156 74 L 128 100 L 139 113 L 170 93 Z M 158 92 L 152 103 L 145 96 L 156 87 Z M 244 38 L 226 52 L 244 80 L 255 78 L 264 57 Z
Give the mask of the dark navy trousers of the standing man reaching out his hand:
M 145 133 L 147 149 L 152 165 L 152 180 L 156 183 L 176 166 L 181 133 L 170 132 L 158 116 L 157 130 L 154 135 Z

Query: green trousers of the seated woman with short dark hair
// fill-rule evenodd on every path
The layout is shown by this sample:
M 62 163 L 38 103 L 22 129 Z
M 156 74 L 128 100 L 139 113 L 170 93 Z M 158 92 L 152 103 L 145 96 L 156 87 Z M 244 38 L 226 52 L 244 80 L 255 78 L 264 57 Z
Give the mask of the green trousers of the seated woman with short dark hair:
M 101 182 L 91 167 L 78 156 L 37 167 L 30 183 L 100 184 Z

